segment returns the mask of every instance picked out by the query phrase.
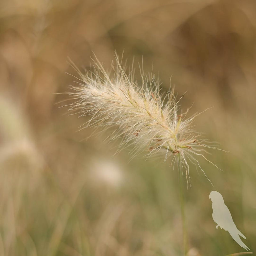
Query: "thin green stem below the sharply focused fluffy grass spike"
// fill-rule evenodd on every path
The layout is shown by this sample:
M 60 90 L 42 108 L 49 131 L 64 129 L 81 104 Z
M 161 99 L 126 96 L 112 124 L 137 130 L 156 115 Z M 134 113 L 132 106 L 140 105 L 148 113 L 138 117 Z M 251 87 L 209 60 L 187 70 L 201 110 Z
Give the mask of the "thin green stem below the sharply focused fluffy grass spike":
M 180 186 L 180 210 L 181 210 L 181 220 L 182 220 L 182 235 L 183 235 L 183 255 L 185 256 L 188 248 L 187 248 L 187 228 L 186 228 L 186 217 L 185 217 L 185 209 L 184 209 L 184 185 L 183 185 L 183 177 L 182 177 L 182 163 L 180 161 L 180 154 L 178 160 L 178 172 L 180 173 L 179 177 L 179 186 Z

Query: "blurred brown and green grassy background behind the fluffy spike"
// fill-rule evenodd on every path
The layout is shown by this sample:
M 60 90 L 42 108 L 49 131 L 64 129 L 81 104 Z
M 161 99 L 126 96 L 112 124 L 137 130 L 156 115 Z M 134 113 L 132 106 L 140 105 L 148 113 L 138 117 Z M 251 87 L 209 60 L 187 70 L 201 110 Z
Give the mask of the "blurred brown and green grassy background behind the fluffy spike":
M 0 255 L 182 255 L 179 174 L 171 163 L 79 129 L 69 115 L 70 58 L 106 68 L 114 51 L 141 61 L 182 109 L 204 111 L 218 170 L 201 162 L 185 189 L 188 256 L 244 250 L 216 229 L 219 191 L 256 250 L 256 2 L 254 0 L 2 0 L 0 3 Z M 152 68 L 153 63 L 153 68 Z M 138 69 L 137 69 L 138 70 Z M 68 75 L 71 74 L 71 75 Z M 213 107 L 213 108 L 211 108 Z M 186 180 L 184 177 L 184 186 Z

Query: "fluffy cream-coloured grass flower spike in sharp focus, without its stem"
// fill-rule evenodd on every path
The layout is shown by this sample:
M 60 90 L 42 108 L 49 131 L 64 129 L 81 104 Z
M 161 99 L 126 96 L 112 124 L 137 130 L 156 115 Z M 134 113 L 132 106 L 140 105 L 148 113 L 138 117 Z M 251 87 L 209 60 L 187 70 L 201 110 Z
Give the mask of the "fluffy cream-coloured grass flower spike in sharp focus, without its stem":
M 196 158 L 203 157 L 210 162 L 202 152 L 204 147 L 213 147 L 197 139 L 199 134 L 191 130 L 197 115 L 186 118 L 188 111 L 178 114 L 173 90 L 162 98 L 159 81 L 152 75 L 146 76 L 142 69 L 141 86 L 134 79 L 133 67 L 129 74 L 125 73 L 125 65 L 122 66 L 117 55 L 109 73 L 97 59 L 91 71 L 85 74 L 76 69 L 81 83 L 79 87 L 72 87 L 75 92 L 71 95 L 76 102 L 71 109 L 78 109 L 81 116 L 90 115 L 87 125 L 104 129 L 115 127 L 110 137 L 112 140 L 122 138 L 119 148 L 132 144 L 135 155 L 146 150 L 149 156 L 161 153 L 164 161 L 168 156 L 173 156 L 172 162 L 179 158 L 188 181 L 188 162 L 203 171 Z

